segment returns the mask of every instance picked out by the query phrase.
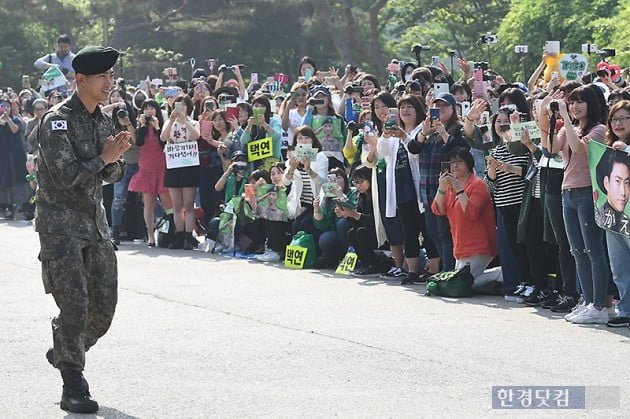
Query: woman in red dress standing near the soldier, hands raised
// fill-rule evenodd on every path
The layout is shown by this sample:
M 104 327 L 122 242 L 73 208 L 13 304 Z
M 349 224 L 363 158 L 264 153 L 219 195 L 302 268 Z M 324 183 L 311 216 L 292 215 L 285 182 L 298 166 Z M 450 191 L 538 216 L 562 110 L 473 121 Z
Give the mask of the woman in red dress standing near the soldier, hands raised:
M 136 145 L 140 148 L 139 170 L 129 183 L 129 190 L 142 192 L 144 203 L 144 222 L 149 236 L 148 246 L 155 246 L 153 236 L 155 198 L 160 197 L 160 203 L 167 216 L 172 218 L 173 203 L 168 189 L 164 186 L 166 158 L 164 143 L 160 141 L 160 133 L 164 125 L 164 118 L 160 105 L 153 99 L 147 99 L 142 104 L 141 114 L 138 116 Z

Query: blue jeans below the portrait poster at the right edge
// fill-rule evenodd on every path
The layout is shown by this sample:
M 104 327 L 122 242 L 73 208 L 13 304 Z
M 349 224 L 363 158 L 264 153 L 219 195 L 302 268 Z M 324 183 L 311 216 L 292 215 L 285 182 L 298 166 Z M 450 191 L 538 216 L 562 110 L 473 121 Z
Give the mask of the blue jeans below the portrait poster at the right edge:
M 606 232 L 613 280 L 619 290 L 619 316 L 630 317 L 630 237 Z

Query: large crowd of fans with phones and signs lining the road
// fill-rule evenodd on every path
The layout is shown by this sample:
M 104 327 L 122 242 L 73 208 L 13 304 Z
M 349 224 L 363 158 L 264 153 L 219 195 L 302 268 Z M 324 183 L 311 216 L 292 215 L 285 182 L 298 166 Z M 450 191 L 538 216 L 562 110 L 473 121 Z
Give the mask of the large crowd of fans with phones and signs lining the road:
M 68 70 L 70 40 L 58 44 L 38 68 Z M 502 284 L 506 301 L 628 326 L 630 237 L 595 222 L 587 143 L 630 151 L 630 91 L 610 73 L 564 80 L 544 72 L 545 59 L 527 85 L 464 58 L 457 80 L 439 60 L 369 74 L 321 71 L 309 57 L 292 84 L 254 73 L 246 83 L 240 65 L 199 68 L 190 81 L 173 69 L 136 86 L 121 79 L 102 104 L 134 143 L 125 177 L 104 186 L 113 240 L 131 237 L 132 204 L 151 247 L 275 262 L 304 232 L 316 269 L 348 249 L 354 274 L 401 284 L 469 265 L 476 285 Z M 72 91 L 64 74 L 68 85 L 46 95 L 28 80 L 1 93 L 5 218 L 35 216 L 38 122 Z M 538 135 L 515 132 L 530 121 Z M 167 168 L 165 150 L 184 143 L 196 143 L 198 163 Z M 623 212 L 630 174 L 606 188 L 621 190 Z

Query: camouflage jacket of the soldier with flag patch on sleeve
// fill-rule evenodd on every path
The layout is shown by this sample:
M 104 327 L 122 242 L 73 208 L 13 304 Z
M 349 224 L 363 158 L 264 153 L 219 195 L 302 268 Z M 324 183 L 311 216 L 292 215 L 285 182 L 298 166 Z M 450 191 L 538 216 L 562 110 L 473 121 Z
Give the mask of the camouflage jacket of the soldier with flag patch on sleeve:
M 113 133 L 112 119 L 98 106 L 90 114 L 76 93 L 42 118 L 36 231 L 109 239 L 102 182 L 121 180 L 126 168 L 124 160 L 106 165 L 100 158 Z

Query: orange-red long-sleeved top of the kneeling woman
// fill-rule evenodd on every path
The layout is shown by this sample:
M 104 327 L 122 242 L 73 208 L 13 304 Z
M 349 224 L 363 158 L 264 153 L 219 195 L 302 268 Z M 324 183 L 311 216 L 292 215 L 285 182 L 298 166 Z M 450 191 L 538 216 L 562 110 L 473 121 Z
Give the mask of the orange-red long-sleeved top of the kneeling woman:
M 435 215 L 446 215 L 448 218 L 455 259 L 476 255 L 494 257 L 497 254 L 497 228 L 487 186 L 473 174 L 464 185 L 464 193 L 468 197 L 466 212 L 462 210 L 451 185 L 444 196 L 444 212 L 438 210 L 435 200 L 431 210 Z

